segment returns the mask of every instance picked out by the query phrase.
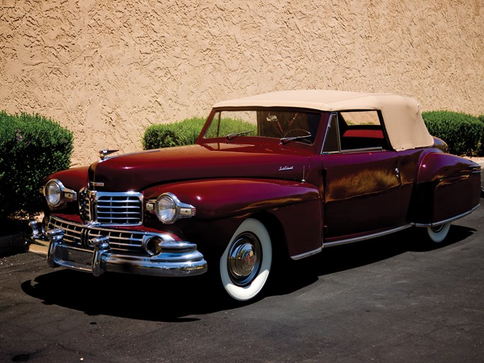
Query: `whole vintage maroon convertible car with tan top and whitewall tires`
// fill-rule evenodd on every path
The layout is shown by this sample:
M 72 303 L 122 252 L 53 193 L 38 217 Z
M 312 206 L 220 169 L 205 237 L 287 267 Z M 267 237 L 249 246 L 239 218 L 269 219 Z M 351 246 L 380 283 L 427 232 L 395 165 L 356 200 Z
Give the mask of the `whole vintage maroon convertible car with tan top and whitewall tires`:
M 441 242 L 480 203 L 480 165 L 449 155 L 417 101 L 393 94 L 224 101 L 195 145 L 110 151 L 45 179 L 45 218 L 30 223 L 28 250 L 95 276 L 210 269 L 240 301 L 262 291 L 276 257 L 409 227 Z

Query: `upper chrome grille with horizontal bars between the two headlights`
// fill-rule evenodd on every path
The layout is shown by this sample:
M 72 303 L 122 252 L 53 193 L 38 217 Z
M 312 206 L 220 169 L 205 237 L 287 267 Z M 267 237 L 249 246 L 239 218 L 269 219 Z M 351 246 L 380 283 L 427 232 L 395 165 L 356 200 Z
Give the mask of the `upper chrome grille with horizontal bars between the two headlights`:
M 83 220 L 104 225 L 140 225 L 142 194 L 82 189 L 79 192 L 79 213 Z

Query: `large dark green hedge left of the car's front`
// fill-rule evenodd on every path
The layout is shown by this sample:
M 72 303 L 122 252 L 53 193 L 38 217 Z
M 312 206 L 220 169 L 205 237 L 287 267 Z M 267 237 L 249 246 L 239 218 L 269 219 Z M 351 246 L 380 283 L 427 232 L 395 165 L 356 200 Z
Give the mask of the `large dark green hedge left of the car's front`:
M 0 111 L 0 218 L 42 209 L 42 179 L 69 168 L 72 143 L 72 133 L 50 119 Z

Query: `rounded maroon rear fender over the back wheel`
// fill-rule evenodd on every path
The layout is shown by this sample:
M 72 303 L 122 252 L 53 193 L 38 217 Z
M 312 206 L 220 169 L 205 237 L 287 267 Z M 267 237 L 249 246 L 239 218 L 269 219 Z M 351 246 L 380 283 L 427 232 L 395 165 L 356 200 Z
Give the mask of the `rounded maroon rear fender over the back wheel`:
M 430 225 L 470 213 L 480 201 L 480 165 L 471 160 L 432 152 L 420 163 L 412 198 L 412 222 Z

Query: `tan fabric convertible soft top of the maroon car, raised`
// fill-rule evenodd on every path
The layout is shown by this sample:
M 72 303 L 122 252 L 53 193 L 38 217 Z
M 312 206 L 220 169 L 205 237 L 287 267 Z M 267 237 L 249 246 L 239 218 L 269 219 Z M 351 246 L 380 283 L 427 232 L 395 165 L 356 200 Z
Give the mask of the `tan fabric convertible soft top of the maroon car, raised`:
M 277 91 L 233 99 L 214 107 L 298 107 L 320 111 L 380 110 L 390 143 L 395 150 L 415 149 L 434 144 L 415 99 L 395 94 L 347 91 Z

